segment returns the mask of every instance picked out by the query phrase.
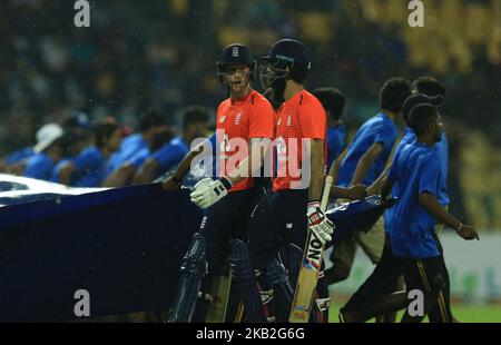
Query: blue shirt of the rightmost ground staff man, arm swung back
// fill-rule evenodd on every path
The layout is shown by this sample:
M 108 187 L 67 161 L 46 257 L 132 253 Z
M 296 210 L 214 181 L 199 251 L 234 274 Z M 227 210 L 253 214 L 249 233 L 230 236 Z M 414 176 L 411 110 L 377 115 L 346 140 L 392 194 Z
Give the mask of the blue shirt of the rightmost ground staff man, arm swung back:
M 406 145 L 395 156 L 387 177 L 399 190 L 390 225 L 393 253 L 407 258 L 439 256 L 432 236 L 436 220 L 419 201 L 423 193 L 439 196 L 443 176 L 436 150 L 419 141 Z

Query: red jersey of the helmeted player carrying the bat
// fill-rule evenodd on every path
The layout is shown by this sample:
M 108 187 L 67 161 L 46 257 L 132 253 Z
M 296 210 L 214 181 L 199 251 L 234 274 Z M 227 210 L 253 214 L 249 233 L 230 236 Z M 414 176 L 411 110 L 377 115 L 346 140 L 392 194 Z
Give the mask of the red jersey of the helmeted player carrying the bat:
M 302 90 L 281 106 L 275 125 L 277 166 L 273 190 L 277 191 L 294 188 L 291 183 L 297 183 L 296 186 L 299 185 L 303 158 L 302 139 L 324 140 L 324 160 L 327 161 L 325 140 L 327 118 L 320 100 L 308 91 Z M 305 157 L 305 159 L 310 159 L 310 157 Z

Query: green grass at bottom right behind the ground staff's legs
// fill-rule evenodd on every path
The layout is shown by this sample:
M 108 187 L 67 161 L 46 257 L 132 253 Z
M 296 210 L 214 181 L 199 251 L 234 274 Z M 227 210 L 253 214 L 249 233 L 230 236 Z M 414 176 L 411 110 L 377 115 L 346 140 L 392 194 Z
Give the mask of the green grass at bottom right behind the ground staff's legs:
M 337 323 L 337 313 L 343 306 L 341 303 L 334 303 L 331 306 L 330 321 Z M 468 305 L 453 304 L 452 313 L 454 317 L 461 323 L 501 323 L 501 305 Z M 402 312 L 399 313 L 400 321 Z M 373 322 L 373 321 L 372 321 Z M 428 322 L 428 319 L 426 319 Z

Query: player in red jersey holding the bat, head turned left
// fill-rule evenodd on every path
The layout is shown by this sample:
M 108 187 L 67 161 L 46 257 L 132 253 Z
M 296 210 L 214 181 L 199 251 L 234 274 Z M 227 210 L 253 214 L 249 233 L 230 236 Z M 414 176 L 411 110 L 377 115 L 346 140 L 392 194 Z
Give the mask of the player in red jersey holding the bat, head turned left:
M 262 305 L 259 286 L 265 284 L 264 273 L 284 244 L 295 248 L 295 253 L 287 253 L 287 259 L 293 262 L 288 265 L 293 276 L 288 285 L 291 303 L 291 286 L 295 286 L 294 279 L 297 279 L 306 229 L 327 241 L 334 227 L 320 207 L 326 172 L 326 116 L 322 103 L 303 87 L 311 66 L 306 47 L 296 40 L 279 40 L 266 60 L 268 66 L 259 77 L 266 88 L 273 89 L 274 100 L 283 102 L 275 121 L 276 177 L 272 190 L 253 211 L 249 250 L 240 250 L 232 263 L 239 268 L 233 272 L 243 282 L 239 293 L 247 296 L 243 297 L 245 309 L 252 310 L 247 321 L 255 322 L 266 319 L 265 309 L 259 313 L 258 308 Z M 225 194 L 225 183 L 216 184 Z

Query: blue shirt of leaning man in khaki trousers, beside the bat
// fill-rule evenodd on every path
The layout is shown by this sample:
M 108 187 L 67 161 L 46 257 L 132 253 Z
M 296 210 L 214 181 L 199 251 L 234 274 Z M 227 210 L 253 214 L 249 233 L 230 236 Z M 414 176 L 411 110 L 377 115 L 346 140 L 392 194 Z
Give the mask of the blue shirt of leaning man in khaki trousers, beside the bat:
M 365 186 L 372 185 L 372 183 L 383 171 L 397 135 L 399 130 L 396 129 L 395 124 L 383 112 L 380 112 L 369 119 L 364 125 L 362 125 L 348 146 L 346 156 L 341 162 L 336 185 L 342 187 L 350 186 L 360 159 L 371 146 L 379 142 L 383 145 L 383 151 L 374 161 L 363 181 Z

